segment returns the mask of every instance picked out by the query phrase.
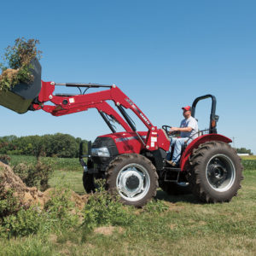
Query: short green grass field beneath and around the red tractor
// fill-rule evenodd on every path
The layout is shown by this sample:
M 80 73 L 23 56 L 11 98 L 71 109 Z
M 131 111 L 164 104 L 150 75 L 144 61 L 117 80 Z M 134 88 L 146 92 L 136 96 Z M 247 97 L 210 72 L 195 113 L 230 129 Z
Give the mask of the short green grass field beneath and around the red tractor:
M 55 166 L 52 185 L 65 179 L 83 193 L 81 169 L 67 172 Z M 230 203 L 201 204 L 193 195 L 171 196 L 159 190 L 157 199 L 166 204 L 166 212 L 134 208 L 131 225 L 103 227 L 85 241 L 80 228 L 0 239 L 0 255 L 255 255 L 256 169 L 246 169 L 244 177 Z

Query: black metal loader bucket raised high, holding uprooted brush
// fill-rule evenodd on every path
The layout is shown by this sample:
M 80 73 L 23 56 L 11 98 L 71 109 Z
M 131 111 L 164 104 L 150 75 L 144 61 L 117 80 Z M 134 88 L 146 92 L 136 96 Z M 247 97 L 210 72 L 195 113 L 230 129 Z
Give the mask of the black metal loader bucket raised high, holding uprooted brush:
M 32 60 L 31 64 L 33 66 L 31 73 L 34 76 L 32 84 L 20 83 L 11 90 L 1 91 L 0 105 L 16 113 L 26 113 L 41 90 L 41 65 L 38 59 Z

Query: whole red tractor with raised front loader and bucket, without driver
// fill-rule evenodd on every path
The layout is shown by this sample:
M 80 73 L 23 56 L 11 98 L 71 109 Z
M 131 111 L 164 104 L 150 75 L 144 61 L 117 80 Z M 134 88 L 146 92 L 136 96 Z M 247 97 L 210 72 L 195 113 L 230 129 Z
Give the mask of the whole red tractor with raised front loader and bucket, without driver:
M 2 92 L 1 105 L 17 113 L 41 109 L 56 117 L 96 108 L 111 131 L 89 143 L 87 155 L 83 155 L 80 147 L 79 161 L 84 170 L 86 192 L 95 191 L 96 179 L 105 179 L 106 189 L 117 190 L 124 204 L 142 207 L 156 195 L 159 187 L 171 195 L 190 191 L 209 203 L 230 201 L 241 188 L 241 160 L 230 147 L 230 138 L 217 132 L 215 96 L 200 96 L 193 102 L 192 116 L 195 117 L 197 103 L 207 98 L 212 100 L 209 129 L 199 131 L 199 136 L 183 148 L 179 166 L 172 167 L 166 163 L 171 126 L 154 126 L 115 84 L 44 82 L 37 60 L 33 66 L 34 82 L 18 84 L 15 89 Z M 75 87 L 79 94 L 57 94 L 55 86 Z M 90 88 L 102 90 L 87 93 Z M 111 101 L 114 108 L 109 104 Z M 127 113 L 129 109 L 143 122 L 146 131 L 137 131 Z M 124 131 L 117 132 L 113 122 Z

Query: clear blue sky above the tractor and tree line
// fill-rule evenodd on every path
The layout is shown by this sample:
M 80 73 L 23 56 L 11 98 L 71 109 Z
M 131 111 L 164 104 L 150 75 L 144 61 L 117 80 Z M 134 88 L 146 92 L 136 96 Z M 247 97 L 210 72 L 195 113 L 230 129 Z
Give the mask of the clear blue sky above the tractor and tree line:
M 158 127 L 179 125 L 183 106 L 212 94 L 218 132 L 256 154 L 255 1 L 14 0 L 0 8 L 0 54 L 15 38 L 38 38 L 44 81 L 117 84 Z M 210 101 L 200 102 L 201 129 L 209 113 Z M 55 118 L 0 107 L 0 116 L 0 136 L 109 132 L 95 109 Z

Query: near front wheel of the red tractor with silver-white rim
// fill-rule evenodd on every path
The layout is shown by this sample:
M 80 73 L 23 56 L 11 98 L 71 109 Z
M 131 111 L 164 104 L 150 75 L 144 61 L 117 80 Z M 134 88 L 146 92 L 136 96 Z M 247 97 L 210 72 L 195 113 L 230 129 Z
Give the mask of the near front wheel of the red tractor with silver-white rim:
M 125 205 L 143 207 L 157 188 L 155 167 L 141 154 L 121 154 L 108 166 L 107 189 L 116 189 Z

